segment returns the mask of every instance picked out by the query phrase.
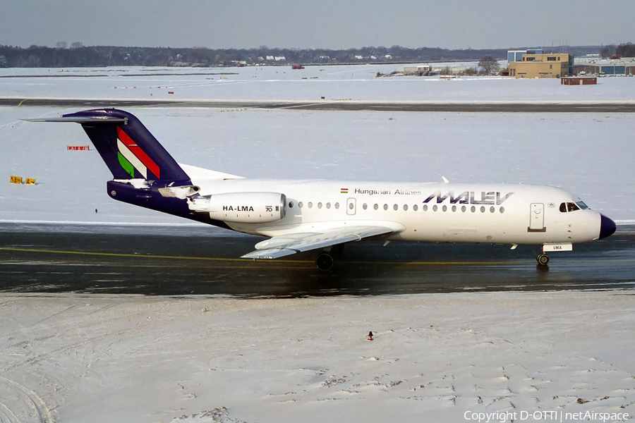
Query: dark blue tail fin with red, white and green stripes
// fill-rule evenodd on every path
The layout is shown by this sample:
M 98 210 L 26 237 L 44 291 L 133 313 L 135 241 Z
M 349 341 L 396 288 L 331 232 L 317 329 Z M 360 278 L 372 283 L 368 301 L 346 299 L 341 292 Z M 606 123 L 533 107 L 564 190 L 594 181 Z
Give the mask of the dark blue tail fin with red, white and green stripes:
M 30 121 L 80 123 L 114 179 L 190 180 L 143 123 L 126 111 L 95 109 Z

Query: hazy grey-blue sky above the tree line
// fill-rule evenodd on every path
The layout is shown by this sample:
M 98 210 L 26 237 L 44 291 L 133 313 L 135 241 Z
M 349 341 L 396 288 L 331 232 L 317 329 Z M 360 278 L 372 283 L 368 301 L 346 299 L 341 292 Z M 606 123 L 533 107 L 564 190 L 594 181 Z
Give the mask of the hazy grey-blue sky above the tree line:
M 632 0 L 0 0 L 0 44 L 506 49 L 635 42 Z

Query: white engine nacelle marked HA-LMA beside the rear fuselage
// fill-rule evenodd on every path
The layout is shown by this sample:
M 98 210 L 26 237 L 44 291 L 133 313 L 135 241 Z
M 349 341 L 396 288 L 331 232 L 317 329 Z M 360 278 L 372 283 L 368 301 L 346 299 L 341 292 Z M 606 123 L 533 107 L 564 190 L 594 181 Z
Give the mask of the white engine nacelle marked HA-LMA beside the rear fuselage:
M 286 195 L 279 192 L 227 192 L 214 194 L 207 212 L 214 220 L 234 223 L 269 223 L 284 219 Z

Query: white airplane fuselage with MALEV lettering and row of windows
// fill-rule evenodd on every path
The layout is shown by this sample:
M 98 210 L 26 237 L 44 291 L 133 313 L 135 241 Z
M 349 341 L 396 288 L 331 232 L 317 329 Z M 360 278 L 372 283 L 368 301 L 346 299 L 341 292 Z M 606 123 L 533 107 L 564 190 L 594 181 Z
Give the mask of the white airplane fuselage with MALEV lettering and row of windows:
M 280 192 L 284 219 L 231 223 L 265 236 L 346 225 L 394 228 L 387 240 L 449 243 L 569 244 L 597 239 L 600 213 L 562 212 L 576 195 L 549 186 L 495 183 L 391 183 L 330 180 L 193 178 L 200 195 Z

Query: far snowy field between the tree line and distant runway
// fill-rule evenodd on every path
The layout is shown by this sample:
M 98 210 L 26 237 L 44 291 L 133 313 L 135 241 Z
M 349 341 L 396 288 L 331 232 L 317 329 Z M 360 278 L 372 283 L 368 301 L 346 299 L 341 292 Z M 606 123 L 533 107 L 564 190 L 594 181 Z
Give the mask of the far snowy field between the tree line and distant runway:
M 455 63 L 456 65 L 456 63 Z M 635 78 L 598 78 L 571 87 L 559 79 L 376 78 L 397 65 L 246 68 L 0 69 L 0 97 L 28 99 L 240 99 L 435 102 L 634 102 Z M 34 78 L 37 77 L 37 78 Z M 174 94 L 169 94 L 173 92 Z M 20 101 L 18 100 L 18 101 Z

